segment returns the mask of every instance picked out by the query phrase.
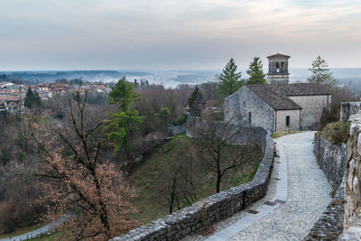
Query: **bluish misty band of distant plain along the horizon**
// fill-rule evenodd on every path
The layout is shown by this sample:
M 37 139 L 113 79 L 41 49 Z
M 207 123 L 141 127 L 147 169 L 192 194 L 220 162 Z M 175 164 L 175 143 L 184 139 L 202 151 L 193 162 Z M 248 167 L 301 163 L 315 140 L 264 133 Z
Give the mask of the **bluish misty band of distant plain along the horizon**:
M 122 77 L 129 81 L 134 79 L 148 80 L 150 84 L 162 84 L 165 87 L 175 88 L 180 84 L 197 85 L 204 82 L 218 81 L 218 75 L 222 70 L 42 70 L 42 71 L 0 71 L 14 79 L 31 80 L 32 82 L 52 82 L 57 79 L 83 79 L 87 81 L 116 82 Z M 247 79 L 245 68 L 239 68 L 242 79 Z M 264 72 L 267 72 L 264 68 Z M 332 69 L 334 77 L 339 84 L 351 86 L 360 85 L 361 68 L 338 68 Z M 290 81 L 307 81 L 310 77 L 308 69 L 290 68 Z

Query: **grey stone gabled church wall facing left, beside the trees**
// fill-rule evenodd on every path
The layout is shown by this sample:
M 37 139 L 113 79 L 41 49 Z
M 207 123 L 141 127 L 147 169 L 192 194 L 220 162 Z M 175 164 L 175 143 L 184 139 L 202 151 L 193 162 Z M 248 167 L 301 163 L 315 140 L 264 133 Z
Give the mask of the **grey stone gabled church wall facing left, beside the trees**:
M 239 113 L 239 123 L 244 125 L 260 126 L 273 132 L 274 110 L 269 107 L 262 98 L 246 87 L 240 88 L 236 93 L 225 99 L 225 120 Z M 249 123 L 251 113 L 251 123 Z

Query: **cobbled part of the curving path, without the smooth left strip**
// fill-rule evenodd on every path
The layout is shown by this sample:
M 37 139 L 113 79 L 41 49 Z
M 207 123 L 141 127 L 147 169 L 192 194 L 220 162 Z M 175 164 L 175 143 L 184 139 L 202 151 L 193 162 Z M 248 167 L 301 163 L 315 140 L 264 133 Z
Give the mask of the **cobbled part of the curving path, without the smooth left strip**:
M 231 240 L 301 240 L 308 235 L 331 201 L 331 186 L 313 153 L 313 136 L 308 132 L 274 140 L 287 161 L 287 201 Z

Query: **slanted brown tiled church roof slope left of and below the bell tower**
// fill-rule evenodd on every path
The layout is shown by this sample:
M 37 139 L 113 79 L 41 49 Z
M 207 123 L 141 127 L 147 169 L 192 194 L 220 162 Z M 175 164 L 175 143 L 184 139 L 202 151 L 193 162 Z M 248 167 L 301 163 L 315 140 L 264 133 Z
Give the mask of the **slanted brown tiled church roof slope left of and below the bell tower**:
M 299 105 L 284 95 L 277 86 L 273 85 L 245 85 L 256 96 L 262 98 L 264 102 L 275 110 L 285 109 L 301 109 Z

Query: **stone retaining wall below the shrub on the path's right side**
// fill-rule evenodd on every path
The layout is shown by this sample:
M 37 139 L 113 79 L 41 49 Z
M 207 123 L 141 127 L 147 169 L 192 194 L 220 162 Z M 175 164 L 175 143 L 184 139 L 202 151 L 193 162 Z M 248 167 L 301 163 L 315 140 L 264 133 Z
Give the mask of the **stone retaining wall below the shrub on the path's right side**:
M 314 152 L 319 168 L 325 172 L 335 188 L 338 188 L 345 172 L 347 144 L 330 144 L 326 139 L 315 134 Z

